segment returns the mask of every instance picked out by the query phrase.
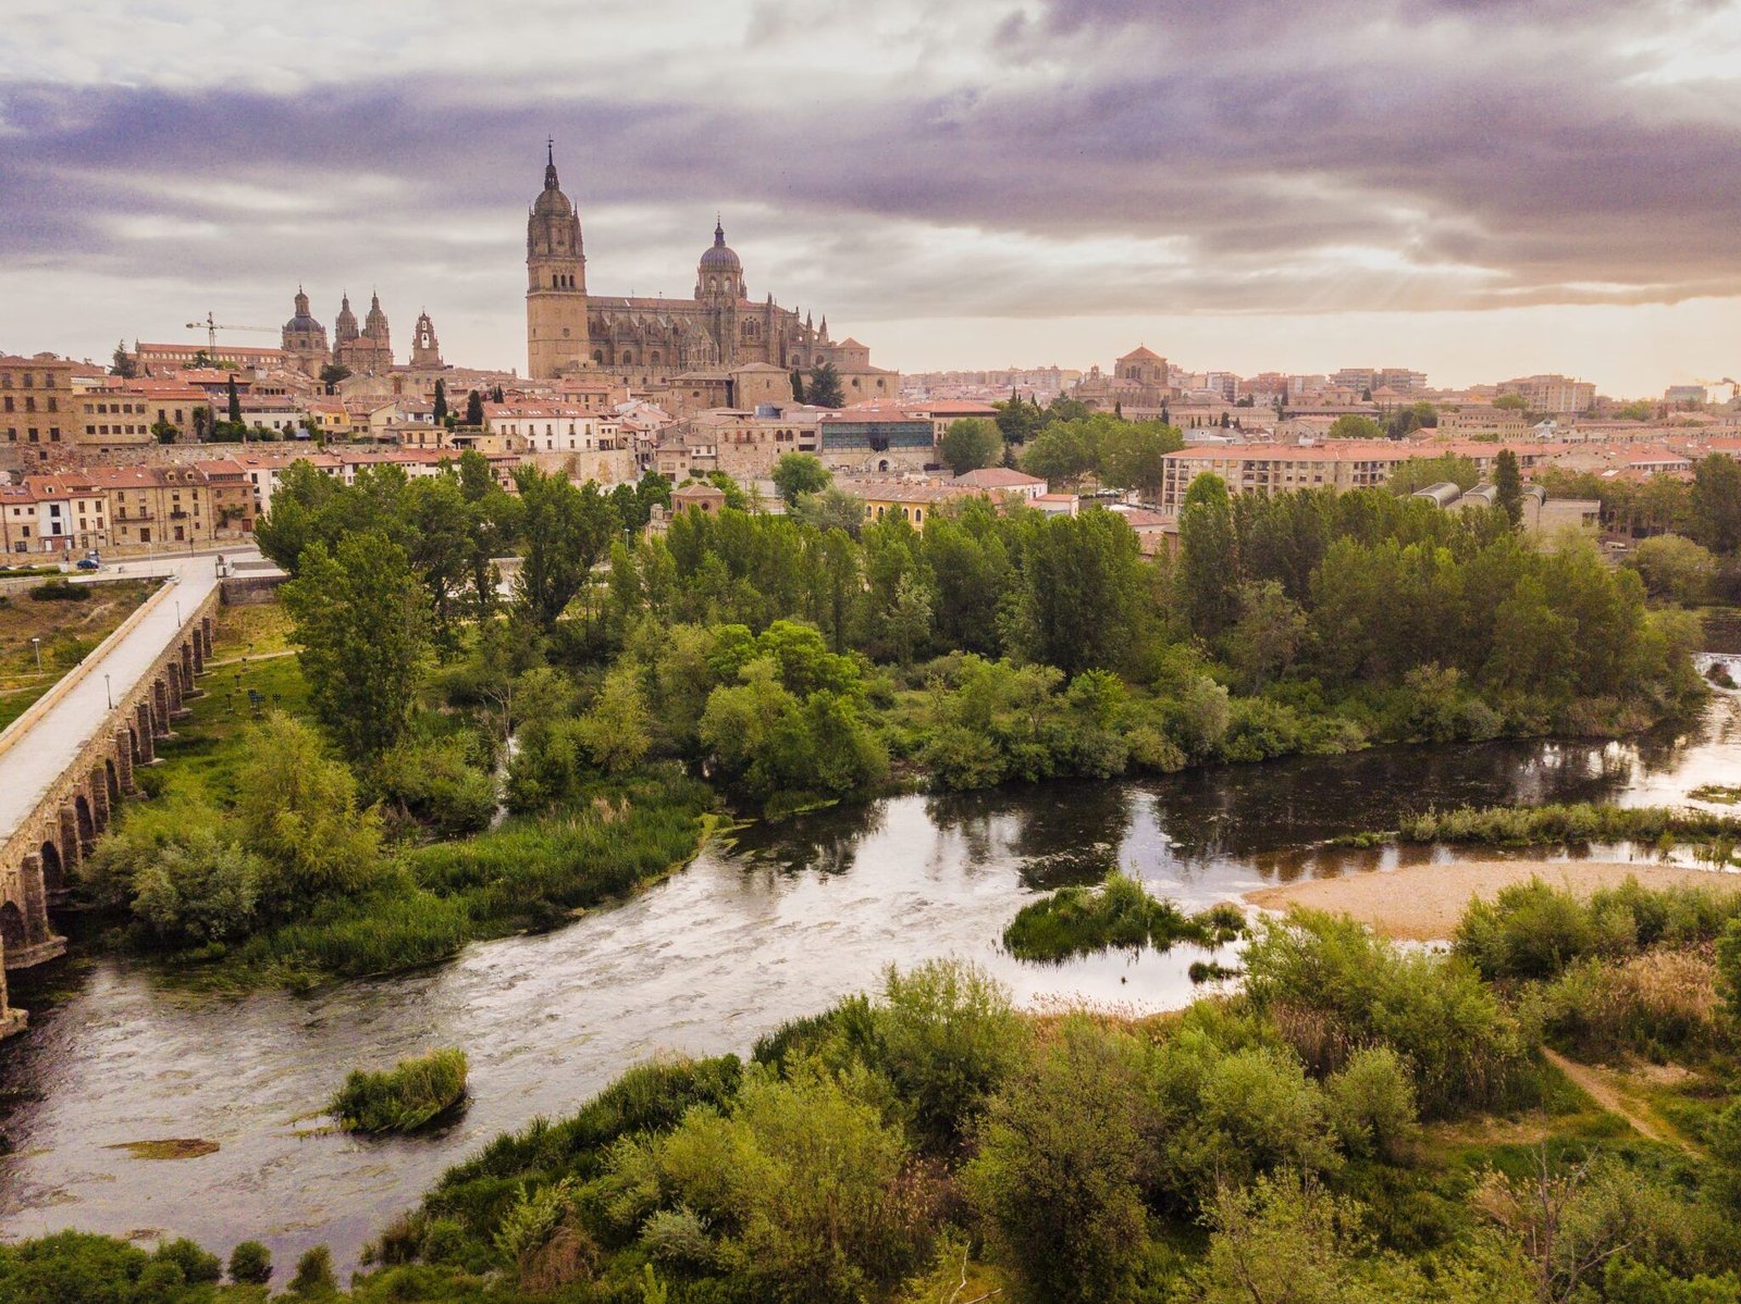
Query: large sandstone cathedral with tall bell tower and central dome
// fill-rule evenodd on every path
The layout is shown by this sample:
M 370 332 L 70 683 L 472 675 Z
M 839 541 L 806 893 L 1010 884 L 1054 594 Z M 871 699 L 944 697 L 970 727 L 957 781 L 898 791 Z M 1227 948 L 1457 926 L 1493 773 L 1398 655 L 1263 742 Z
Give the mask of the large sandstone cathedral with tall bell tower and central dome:
M 743 263 L 717 221 L 695 270 L 693 298 L 588 294 L 580 214 L 557 181 L 554 146 L 543 193 L 526 219 L 526 353 L 533 380 L 595 369 L 656 385 L 745 367 L 808 371 L 827 362 L 841 373 L 848 402 L 893 399 L 900 388 L 897 373 L 870 366 L 865 345 L 834 343 L 827 317 L 818 327 L 808 315 L 778 306 L 773 294 L 750 299 Z

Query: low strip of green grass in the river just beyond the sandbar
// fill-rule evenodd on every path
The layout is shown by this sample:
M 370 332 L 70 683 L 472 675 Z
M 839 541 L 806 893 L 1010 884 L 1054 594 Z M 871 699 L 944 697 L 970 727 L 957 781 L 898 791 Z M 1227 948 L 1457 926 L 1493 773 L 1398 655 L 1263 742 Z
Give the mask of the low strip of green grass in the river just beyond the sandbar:
M 1407 815 L 1405 843 L 1654 843 L 1741 837 L 1741 818 L 1668 806 L 1459 806 Z

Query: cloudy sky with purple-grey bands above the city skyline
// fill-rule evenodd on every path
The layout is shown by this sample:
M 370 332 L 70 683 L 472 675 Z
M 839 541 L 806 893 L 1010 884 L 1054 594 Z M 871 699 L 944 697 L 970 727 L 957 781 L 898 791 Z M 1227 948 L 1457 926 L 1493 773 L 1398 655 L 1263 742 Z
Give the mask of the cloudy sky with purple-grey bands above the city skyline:
M 1741 0 L 7 0 L 0 350 L 331 326 L 524 369 L 557 141 L 597 292 L 907 371 L 1741 369 Z M 360 303 L 357 303 L 360 299 Z M 232 334 L 232 343 L 270 343 Z

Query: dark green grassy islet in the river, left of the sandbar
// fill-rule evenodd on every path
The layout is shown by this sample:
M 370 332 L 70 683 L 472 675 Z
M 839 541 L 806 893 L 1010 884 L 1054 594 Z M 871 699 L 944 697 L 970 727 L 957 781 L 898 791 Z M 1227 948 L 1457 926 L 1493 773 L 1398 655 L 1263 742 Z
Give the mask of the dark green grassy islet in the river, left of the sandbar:
M 1186 916 L 1135 879 L 1109 874 L 1099 888 L 1059 888 L 1024 905 L 1003 930 L 1003 945 L 1018 959 L 1059 963 L 1111 947 L 1166 951 L 1173 942 L 1208 947 L 1231 942 L 1241 928 L 1236 909 Z

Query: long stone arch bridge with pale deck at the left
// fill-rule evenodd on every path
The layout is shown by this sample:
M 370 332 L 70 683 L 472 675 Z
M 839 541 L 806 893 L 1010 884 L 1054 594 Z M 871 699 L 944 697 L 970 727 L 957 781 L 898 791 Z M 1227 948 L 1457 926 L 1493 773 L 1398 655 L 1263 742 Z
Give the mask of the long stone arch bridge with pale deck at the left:
M 202 571 L 205 571 L 202 575 Z M 214 568 L 190 561 L 0 733 L 0 1036 L 24 1027 L 5 970 L 54 959 L 50 912 L 115 808 L 138 792 L 211 658 Z

